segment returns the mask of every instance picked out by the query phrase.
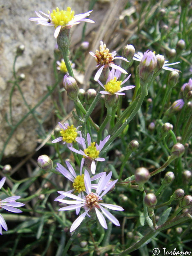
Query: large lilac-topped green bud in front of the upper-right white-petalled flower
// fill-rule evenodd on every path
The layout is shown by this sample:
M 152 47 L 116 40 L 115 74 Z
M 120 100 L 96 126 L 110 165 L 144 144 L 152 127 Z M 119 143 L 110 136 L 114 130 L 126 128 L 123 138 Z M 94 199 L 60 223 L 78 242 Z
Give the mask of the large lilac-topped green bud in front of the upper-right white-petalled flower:
M 152 51 L 147 51 L 144 53 L 143 58 L 139 65 L 139 77 L 143 82 L 150 82 L 154 71 L 157 66 L 157 59 L 155 53 Z

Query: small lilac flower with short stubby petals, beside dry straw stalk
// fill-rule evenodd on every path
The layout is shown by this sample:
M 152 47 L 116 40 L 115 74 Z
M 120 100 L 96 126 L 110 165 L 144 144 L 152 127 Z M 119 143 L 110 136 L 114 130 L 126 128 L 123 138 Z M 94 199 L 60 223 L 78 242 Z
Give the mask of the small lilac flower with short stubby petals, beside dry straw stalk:
M 61 128 L 61 135 L 62 137 L 59 137 L 55 140 L 52 140 L 52 143 L 56 143 L 56 142 L 59 142 L 61 140 L 63 140 L 63 145 L 65 145 L 67 143 L 67 146 L 69 147 L 73 147 L 73 142 L 78 142 L 79 144 L 82 144 L 84 142 L 84 138 L 82 138 L 82 135 L 81 135 L 81 131 L 78 131 L 77 130 L 79 129 L 79 127 L 82 127 L 81 125 L 78 126 L 77 128 L 75 128 L 73 126 L 73 124 L 71 126 L 69 126 L 68 123 L 64 123 L 64 125 L 62 125 L 60 122 L 59 122 L 59 125 L 60 125 L 60 128 Z M 80 134 L 80 136 L 77 136 L 78 133 Z

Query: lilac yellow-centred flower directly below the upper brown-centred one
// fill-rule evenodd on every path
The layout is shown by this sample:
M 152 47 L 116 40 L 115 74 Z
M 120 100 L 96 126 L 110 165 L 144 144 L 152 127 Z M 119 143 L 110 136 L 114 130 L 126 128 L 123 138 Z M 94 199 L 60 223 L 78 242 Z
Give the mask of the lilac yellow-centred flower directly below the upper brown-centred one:
M 108 79 L 107 79 L 105 85 L 103 85 L 98 80 L 97 82 L 100 84 L 100 86 L 102 86 L 103 89 L 105 89 L 105 91 L 100 91 L 100 93 L 101 94 L 125 95 L 125 93 L 123 91 L 130 90 L 135 87 L 134 85 L 121 87 L 121 85 L 124 84 L 129 79 L 131 74 L 129 76 L 127 76 L 127 78 L 123 82 L 117 81 L 117 79 L 120 77 L 120 75 L 121 75 L 121 72 L 119 70 L 116 70 L 116 72 L 115 72 L 115 69 L 112 68 L 111 71 L 109 72 Z

